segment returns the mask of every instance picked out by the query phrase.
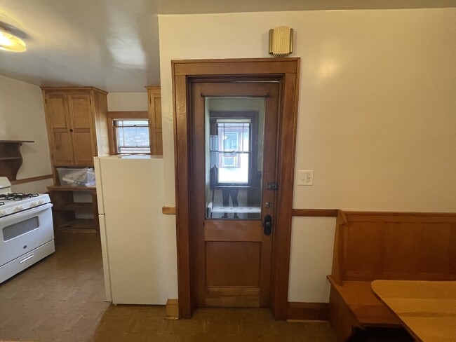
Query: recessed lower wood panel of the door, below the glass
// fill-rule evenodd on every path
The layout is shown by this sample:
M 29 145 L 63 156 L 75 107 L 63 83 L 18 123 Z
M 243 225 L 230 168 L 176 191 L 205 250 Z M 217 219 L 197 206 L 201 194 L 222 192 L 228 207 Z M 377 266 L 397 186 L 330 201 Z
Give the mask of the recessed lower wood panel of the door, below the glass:
M 260 287 L 259 242 L 206 242 L 206 286 Z

